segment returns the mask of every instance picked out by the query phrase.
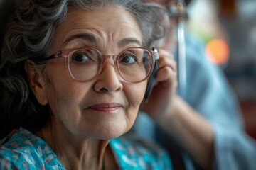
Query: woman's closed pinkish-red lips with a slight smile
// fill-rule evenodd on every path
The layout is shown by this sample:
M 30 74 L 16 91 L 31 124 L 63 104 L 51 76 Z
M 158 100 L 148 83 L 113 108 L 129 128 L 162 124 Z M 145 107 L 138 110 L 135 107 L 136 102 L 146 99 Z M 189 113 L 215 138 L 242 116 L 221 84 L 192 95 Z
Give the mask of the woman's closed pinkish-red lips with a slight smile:
M 122 108 L 122 105 L 119 103 L 101 103 L 97 105 L 92 105 L 89 108 L 95 111 L 110 113 L 118 110 L 119 108 Z

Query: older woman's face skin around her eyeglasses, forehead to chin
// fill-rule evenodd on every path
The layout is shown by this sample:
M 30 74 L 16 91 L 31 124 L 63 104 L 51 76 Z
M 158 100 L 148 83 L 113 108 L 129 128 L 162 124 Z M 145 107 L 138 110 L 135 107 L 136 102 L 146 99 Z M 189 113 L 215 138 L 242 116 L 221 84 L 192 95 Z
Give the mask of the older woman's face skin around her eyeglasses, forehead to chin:
M 72 8 L 55 34 L 49 55 L 85 46 L 117 55 L 127 47 L 142 46 L 142 33 L 135 18 L 122 8 Z M 123 81 L 112 59 L 106 61 L 96 79 L 87 82 L 70 77 L 65 58 L 48 60 L 44 82 L 43 94 L 53 111 L 53 125 L 73 135 L 97 139 L 117 137 L 131 128 L 146 89 L 146 81 Z

